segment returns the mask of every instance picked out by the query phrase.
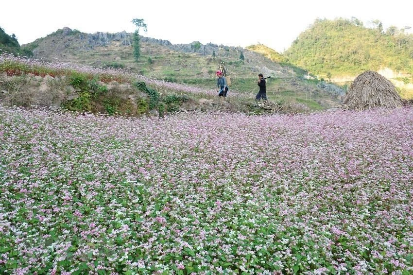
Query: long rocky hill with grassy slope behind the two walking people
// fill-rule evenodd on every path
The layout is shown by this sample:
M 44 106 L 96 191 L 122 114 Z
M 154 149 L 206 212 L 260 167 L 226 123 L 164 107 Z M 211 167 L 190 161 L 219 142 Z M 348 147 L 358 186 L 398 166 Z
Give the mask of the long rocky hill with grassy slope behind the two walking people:
M 210 89 L 214 89 L 215 71 L 224 61 L 230 72 L 231 90 L 257 93 L 257 75 L 263 73 L 272 77 L 267 82 L 270 97 L 315 108 L 340 103 L 344 94 L 340 87 L 304 79 L 305 70 L 277 62 L 256 47 L 248 50 L 197 41 L 172 44 L 168 40 L 141 37 L 141 56 L 136 62 L 132 35 L 126 32 L 86 34 L 63 28 L 24 47 L 32 50 L 35 57 L 52 62 L 126 69 L 151 79 Z

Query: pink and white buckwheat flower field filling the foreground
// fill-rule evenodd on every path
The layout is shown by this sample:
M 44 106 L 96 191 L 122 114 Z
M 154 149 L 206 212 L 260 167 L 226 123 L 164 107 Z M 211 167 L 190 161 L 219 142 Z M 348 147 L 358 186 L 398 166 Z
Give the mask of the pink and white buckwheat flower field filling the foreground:
M 0 105 L 1 274 L 412 274 L 413 109 Z

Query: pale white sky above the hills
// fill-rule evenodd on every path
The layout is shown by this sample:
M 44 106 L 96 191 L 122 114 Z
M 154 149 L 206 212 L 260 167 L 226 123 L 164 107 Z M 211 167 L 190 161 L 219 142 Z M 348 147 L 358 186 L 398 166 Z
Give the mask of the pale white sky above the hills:
M 173 44 L 200 41 L 246 47 L 259 42 L 278 52 L 288 49 L 316 18 L 356 17 L 365 26 L 379 19 L 384 29 L 411 26 L 413 33 L 412 0 L 1 0 L 0 8 L 0 27 L 15 34 L 20 45 L 63 27 L 85 33 L 132 33 L 133 18 L 148 25 L 148 32 L 139 34 Z

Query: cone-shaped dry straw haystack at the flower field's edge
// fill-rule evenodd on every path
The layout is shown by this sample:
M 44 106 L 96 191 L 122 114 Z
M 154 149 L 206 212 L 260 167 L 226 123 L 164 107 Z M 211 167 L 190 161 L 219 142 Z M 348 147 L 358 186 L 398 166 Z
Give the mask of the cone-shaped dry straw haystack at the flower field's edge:
M 379 73 L 368 70 L 354 79 L 343 103 L 349 108 L 359 110 L 396 108 L 402 106 L 402 99 L 393 83 Z

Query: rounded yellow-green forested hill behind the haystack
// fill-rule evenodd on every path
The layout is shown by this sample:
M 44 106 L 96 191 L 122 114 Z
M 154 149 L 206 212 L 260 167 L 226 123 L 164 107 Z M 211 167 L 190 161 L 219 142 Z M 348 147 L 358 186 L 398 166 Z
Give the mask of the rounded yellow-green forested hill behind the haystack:
M 410 27 L 383 30 L 379 20 L 367 28 L 357 18 L 317 19 L 284 53 L 294 65 L 322 77 L 357 75 L 387 67 L 413 74 Z

